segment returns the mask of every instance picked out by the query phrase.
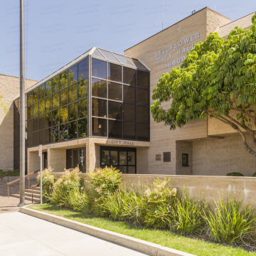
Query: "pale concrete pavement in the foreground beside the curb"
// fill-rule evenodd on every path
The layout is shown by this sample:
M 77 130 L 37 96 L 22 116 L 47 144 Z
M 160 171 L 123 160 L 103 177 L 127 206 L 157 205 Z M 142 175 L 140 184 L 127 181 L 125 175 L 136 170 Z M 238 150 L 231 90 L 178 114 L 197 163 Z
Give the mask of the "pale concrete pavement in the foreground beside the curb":
M 24 213 L 0 215 L 1 256 L 143 256 L 112 242 Z

